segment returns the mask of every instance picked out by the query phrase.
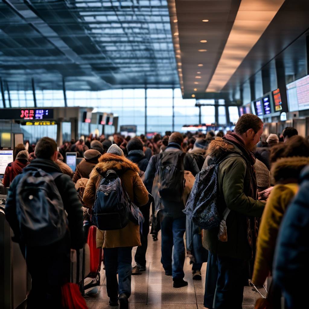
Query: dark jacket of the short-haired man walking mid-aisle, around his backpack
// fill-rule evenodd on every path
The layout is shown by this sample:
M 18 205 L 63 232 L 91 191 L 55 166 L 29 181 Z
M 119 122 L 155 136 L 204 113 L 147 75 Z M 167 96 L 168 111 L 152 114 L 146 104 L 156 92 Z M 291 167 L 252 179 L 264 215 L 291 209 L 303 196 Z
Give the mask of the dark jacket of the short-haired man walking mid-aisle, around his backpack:
M 182 147 L 176 143 L 169 144 L 164 152 L 167 151 L 173 151 L 176 153 L 181 154 L 184 152 Z M 152 193 L 153 197 L 155 198 L 156 207 L 158 205 L 158 198 L 160 201 L 161 209 L 172 209 L 174 210 L 173 213 L 170 212 L 173 216 L 185 216 L 185 214 L 182 212 L 183 205 L 179 205 L 178 202 L 172 202 L 172 201 L 165 201 L 163 198 L 159 197 L 159 184 L 158 184 L 158 175 L 159 175 L 159 169 L 160 169 L 160 156 L 162 154 L 153 155 L 149 161 L 148 167 L 145 171 L 145 185 L 149 193 Z M 190 171 L 193 176 L 196 176 L 196 174 L 200 171 L 195 159 L 192 155 L 186 153 L 184 155 L 184 170 Z M 154 186 L 154 190 L 153 190 Z

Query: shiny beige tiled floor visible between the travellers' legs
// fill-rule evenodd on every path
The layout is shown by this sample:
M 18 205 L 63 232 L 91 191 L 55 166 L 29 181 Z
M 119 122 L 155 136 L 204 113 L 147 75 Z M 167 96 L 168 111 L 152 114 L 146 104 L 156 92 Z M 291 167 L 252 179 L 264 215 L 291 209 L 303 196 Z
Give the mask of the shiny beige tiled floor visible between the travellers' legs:
M 133 266 L 134 254 L 133 248 Z M 186 258 L 184 265 L 185 277 L 188 286 L 175 289 L 172 287 L 171 277 L 164 274 L 161 262 L 161 239 L 154 242 L 151 235 L 148 237 L 146 255 L 147 270 L 140 276 L 132 276 L 132 295 L 129 298 L 130 309 L 203 309 L 206 263 L 202 267 L 202 280 L 192 280 L 191 265 Z M 101 286 L 87 294 L 86 301 L 89 309 L 117 309 L 108 304 L 106 294 L 106 280 L 104 270 L 101 271 Z M 243 309 L 253 309 L 255 300 L 259 298 L 257 292 L 245 287 Z

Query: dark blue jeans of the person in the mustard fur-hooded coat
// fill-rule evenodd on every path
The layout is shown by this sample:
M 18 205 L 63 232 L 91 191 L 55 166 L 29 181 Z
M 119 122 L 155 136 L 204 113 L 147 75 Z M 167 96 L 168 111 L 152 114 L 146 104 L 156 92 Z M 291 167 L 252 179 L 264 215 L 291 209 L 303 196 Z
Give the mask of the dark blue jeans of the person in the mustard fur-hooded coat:
M 104 248 L 103 251 L 108 297 L 117 299 L 118 294 L 125 293 L 129 298 L 131 295 L 132 247 Z

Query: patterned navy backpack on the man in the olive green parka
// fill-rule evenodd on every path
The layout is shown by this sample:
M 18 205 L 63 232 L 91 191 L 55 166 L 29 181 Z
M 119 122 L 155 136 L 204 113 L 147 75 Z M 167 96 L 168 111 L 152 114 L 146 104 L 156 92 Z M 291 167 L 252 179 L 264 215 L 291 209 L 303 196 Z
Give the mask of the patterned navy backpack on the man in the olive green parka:
M 183 212 L 204 230 L 220 225 L 222 214 L 218 210 L 218 167 L 224 160 L 241 156 L 229 153 L 219 158 L 195 176 L 192 191 Z

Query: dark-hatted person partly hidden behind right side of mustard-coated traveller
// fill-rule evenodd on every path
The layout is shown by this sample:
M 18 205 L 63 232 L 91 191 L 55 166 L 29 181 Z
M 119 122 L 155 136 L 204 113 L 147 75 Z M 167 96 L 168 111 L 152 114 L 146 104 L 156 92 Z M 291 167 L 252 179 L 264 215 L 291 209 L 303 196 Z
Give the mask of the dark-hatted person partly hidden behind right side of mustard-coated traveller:
M 127 144 L 128 156 L 127 158 L 136 163 L 138 168 L 140 169 L 140 176 L 144 174 L 146 168 L 148 166 L 148 160 L 145 157 L 143 152 L 143 143 L 142 141 L 135 137 L 129 140 Z M 149 233 L 149 217 L 150 217 L 150 204 L 151 200 L 144 206 L 141 206 L 139 209 L 141 210 L 145 222 L 142 226 L 142 234 L 141 234 L 141 246 L 137 247 L 134 260 L 136 262 L 136 266 L 132 269 L 132 275 L 141 275 L 142 271 L 146 270 L 146 251 L 148 245 L 148 233 Z

